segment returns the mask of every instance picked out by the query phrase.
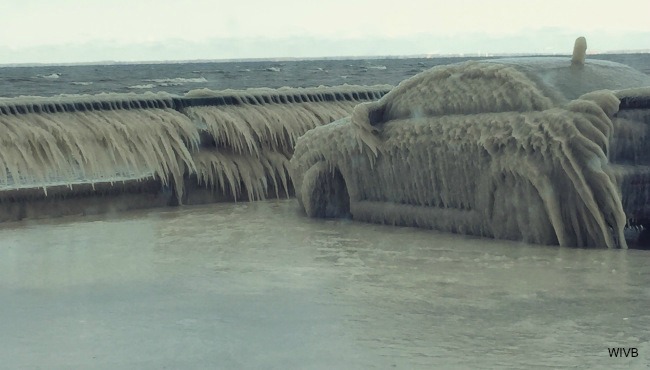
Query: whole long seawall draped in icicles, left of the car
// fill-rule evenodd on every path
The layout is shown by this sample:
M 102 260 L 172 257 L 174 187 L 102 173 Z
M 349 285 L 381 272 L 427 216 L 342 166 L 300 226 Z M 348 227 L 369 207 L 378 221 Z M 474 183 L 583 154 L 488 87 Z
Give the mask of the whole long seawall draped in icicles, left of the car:
M 139 198 L 146 206 L 201 202 L 188 189 L 228 199 L 289 194 L 296 138 L 389 88 L 0 99 L 0 220 L 39 217 L 44 202 L 65 214 L 59 203 L 77 196 L 154 193 Z

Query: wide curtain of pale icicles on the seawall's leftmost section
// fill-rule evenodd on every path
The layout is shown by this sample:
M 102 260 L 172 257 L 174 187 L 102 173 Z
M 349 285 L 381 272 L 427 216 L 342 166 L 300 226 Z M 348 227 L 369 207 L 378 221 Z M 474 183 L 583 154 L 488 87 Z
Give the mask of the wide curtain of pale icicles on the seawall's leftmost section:
M 199 135 L 171 109 L 0 115 L 0 184 L 159 177 L 182 189 Z

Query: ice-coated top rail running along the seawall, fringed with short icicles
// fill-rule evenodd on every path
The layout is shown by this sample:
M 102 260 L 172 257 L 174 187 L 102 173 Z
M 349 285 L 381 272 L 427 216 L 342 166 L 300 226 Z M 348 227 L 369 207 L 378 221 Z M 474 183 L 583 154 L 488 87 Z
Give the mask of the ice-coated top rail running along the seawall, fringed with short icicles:
M 195 106 L 264 105 L 378 100 L 392 86 L 342 85 L 316 88 L 280 88 L 211 91 L 193 90 L 185 96 L 168 93 L 23 96 L 0 98 L 0 114 L 86 112 L 96 110 L 165 109 Z

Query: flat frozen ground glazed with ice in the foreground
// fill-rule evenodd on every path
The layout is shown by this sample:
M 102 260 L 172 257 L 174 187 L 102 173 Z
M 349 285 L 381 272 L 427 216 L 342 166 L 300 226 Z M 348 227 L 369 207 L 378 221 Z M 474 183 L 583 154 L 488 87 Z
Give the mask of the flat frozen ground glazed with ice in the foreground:
M 648 266 L 293 200 L 5 224 L 0 367 L 646 368 Z

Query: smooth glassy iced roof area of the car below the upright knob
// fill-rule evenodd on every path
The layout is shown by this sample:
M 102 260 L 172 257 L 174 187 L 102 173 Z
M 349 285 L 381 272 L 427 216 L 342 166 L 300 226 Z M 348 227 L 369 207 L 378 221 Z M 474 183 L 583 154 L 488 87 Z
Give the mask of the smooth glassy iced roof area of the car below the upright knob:
M 576 99 L 596 90 L 623 90 L 650 86 L 650 76 L 625 64 L 589 60 L 571 64 L 567 57 L 522 57 L 484 62 L 511 65 L 537 82 L 551 98 Z M 559 94 L 559 96 L 558 96 Z

